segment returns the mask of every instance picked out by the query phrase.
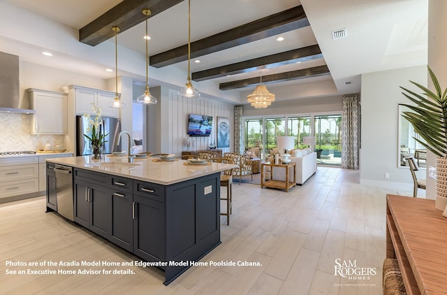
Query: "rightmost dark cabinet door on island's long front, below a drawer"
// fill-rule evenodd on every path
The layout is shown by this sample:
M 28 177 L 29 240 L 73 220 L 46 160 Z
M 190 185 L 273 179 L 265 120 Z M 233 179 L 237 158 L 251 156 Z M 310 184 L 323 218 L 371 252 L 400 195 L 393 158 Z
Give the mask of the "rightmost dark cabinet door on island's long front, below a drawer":
M 165 204 L 133 196 L 133 252 L 147 261 L 165 261 Z

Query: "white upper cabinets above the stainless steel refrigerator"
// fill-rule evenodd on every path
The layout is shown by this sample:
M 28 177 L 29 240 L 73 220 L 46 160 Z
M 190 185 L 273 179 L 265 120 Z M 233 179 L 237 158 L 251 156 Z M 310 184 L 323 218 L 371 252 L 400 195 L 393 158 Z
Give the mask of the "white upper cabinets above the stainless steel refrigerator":
M 101 116 L 119 117 L 118 110 L 108 106 L 108 103 L 115 98 L 115 92 L 71 85 L 68 87 L 68 93 L 74 97 L 76 115 L 94 115 L 93 109 L 91 108 L 91 103 L 94 103 L 101 108 Z

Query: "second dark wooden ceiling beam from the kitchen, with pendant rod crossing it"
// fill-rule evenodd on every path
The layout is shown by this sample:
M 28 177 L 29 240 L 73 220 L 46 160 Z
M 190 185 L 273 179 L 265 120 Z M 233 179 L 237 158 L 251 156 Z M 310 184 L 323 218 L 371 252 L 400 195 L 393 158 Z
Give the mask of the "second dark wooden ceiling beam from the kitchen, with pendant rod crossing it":
M 309 26 L 305 10 L 296 6 L 288 10 L 263 17 L 248 24 L 223 31 L 219 34 L 203 38 L 191 43 L 191 58 L 209 55 L 210 53 L 233 48 L 263 38 L 268 38 L 287 31 L 293 31 Z M 188 59 L 188 44 L 152 55 L 149 58 L 151 66 L 161 68 Z

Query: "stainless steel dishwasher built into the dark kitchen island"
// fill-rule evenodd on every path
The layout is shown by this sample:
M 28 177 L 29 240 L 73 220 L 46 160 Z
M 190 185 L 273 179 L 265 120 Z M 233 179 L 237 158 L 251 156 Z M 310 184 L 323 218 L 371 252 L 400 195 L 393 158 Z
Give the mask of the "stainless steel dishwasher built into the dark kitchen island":
M 73 210 L 73 173 L 70 166 L 54 165 L 56 174 L 57 213 L 75 221 Z

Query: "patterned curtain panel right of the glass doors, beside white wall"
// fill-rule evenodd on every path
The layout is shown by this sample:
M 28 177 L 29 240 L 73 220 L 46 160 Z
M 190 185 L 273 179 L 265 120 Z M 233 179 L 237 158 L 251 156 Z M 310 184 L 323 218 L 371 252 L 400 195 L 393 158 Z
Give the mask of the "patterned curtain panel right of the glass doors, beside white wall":
M 344 96 L 342 115 L 342 168 L 358 169 L 358 124 L 358 96 Z

